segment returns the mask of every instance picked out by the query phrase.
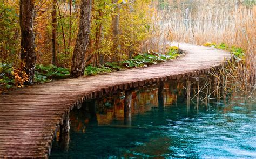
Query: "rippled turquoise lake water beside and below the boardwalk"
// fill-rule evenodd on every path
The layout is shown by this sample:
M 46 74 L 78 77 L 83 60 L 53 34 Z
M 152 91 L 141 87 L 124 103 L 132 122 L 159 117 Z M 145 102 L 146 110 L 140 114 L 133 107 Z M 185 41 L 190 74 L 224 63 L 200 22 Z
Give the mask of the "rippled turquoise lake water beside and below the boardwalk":
M 164 105 L 157 88 L 132 97 L 127 118 L 123 95 L 101 100 L 97 121 L 86 110 L 72 111 L 69 148 L 53 142 L 50 158 L 256 158 L 256 102 L 234 95 L 187 104 L 168 85 Z

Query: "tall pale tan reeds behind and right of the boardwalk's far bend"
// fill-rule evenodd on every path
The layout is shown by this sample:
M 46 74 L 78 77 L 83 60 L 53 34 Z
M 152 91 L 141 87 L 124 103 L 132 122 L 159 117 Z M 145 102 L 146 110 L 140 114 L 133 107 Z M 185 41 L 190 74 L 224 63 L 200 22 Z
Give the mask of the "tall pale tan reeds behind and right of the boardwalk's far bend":
M 157 36 L 152 41 L 158 41 L 157 47 L 162 48 L 167 40 L 197 45 L 224 42 L 229 46 L 227 49 L 232 46 L 241 47 L 245 51 L 242 60 L 227 64 L 225 70 L 221 71 L 228 72 L 226 75 L 232 77 L 237 85 L 236 90 L 242 90 L 247 96 L 251 96 L 255 92 L 256 77 L 256 6 L 216 4 L 208 1 L 184 4 L 180 3 L 179 9 L 170 7 L 158 11 L 154 18 Z M 221 75 L 224 75 L 224 72 Z

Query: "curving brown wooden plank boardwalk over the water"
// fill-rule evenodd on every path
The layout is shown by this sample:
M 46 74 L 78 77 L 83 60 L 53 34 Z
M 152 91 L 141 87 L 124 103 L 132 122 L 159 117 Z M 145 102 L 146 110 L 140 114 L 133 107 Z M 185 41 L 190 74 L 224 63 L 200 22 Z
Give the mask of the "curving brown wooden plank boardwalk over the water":
M 185 56 L 155 66 L 53 81 L 0 95 L 0 158 L 47 158 L 65 115 L 87 99 L 197 76 L 231 58 L 230 53 L 210 47 L 179 44 L 179 48 Z

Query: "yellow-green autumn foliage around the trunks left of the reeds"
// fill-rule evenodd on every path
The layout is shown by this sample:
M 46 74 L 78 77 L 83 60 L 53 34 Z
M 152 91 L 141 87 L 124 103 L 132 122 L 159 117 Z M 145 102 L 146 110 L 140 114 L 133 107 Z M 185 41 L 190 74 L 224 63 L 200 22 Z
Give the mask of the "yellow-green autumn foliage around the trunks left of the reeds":
M 142 54 L 142 50 L 145 51 L 143 49 L 145 41 L 153 37 L 152 16 L 155 10 L 153 2 L 148 0 L 123 0 L 116 3 L 111 0 L 92 1 L 90 42 L 85 57 L 86 64 L 89 66 L 86 67 L 86 75 L 93 74 L 93 70 L 98 70 L 93 68 L 102 68 L 107 62 L 117 62 L 120 65 L 121 61 L 132 59 Z M 56 66 L 49 65 L 52 61 L 53 3 L 54 1 L 35 1 L 33 31 L 37 56 L 36 82 L 46 82 L 55 77 L 62 77 L 59 69 L 60 67 L 67 70 L 70 68 L 76 42 L 80 1 L 57 1 Z M 19 1 L 1 1 L 0 7 L 1 86 L 6 85 L 4 83 L 16 85 L 13 81 L 15 76 L 11 72 L 21 68 Z M 118 15 L 117 52 L 113 50 L 112 19 L 115 15 Z M 66 73 L 63 75 L 65 76 Z

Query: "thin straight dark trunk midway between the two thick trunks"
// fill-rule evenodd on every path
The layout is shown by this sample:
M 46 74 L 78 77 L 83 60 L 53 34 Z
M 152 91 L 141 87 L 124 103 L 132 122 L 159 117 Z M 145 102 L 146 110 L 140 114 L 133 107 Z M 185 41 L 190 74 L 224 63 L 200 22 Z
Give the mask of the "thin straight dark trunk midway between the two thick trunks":
M 57 29 L 57 16 L 56 16 L 56 3 L 57 0 L 52 1 L 52 61 L 51 63 L 56 66 L 56 29 Z

